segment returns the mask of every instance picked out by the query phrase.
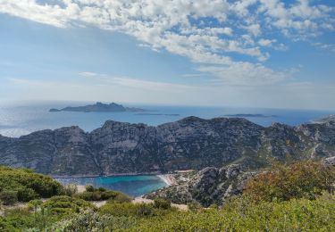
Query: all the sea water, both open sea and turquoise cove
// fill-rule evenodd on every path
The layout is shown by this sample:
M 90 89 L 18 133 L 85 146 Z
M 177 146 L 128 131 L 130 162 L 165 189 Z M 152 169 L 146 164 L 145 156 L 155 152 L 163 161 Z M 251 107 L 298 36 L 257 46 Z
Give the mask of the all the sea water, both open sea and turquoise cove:
M 217 117 L 242 117 L 267 127 L 273 122 L 297 126 L 315 119 L 335 114 L 335 111 L 288 110 L 269 108 L 204 107 L 124 104 L 145 109 L 146 112 L 49 112 L 66 106 L 94 104 L 88 102 L 0 102 L 0 134 L 5 137 L 21 137 L 41 129 L 79 126 L 85 131 L 101 127 L 106 120 L 145 123 L 157 126 L 188 116 L 203 119 Z M 62 183 L 91 184 L 114 189 L 129 195 L 144 195 L 165 186 L 156 176 L 118 176 L 101 178 L 62 178 Z

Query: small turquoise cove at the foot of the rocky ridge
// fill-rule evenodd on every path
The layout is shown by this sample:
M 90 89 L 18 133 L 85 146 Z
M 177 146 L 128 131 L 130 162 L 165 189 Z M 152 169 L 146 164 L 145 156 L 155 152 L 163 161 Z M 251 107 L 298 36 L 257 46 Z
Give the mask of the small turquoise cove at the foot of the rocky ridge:
M 102 186 L 131 196 L 145 195 L 166 186 L 165 182 L 155 175 L 56 179 L 63 185 Z

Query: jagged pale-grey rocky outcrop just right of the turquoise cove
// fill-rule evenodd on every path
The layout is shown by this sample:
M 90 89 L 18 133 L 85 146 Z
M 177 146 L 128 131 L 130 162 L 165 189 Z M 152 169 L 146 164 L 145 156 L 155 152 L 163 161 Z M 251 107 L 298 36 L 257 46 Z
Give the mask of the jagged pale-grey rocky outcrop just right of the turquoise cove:
M 207 167 L 192 178 L 167 186 L 147 195 L 147 198 L 165 198 L 172 203 L 197 202 L 204 207 L 221 205 L 232 195 L 239 195 L 248 178 L 255 172 L 245 171 L 243 165 L 231 164 L 221 169 Z

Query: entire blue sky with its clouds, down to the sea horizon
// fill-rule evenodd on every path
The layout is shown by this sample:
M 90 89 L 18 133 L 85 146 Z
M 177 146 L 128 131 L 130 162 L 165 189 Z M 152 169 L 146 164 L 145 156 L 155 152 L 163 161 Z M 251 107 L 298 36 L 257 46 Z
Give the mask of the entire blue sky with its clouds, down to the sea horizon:
M 0 101 L 335 109 L 335 2 L 0 0 Z

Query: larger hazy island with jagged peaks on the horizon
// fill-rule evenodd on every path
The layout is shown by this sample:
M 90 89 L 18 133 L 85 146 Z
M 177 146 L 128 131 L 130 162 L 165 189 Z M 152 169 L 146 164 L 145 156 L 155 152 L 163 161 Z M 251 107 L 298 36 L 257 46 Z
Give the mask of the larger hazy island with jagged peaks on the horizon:
M 144 109 L 125 107 L 121 104 L 88 104 L 84 106 L 68 106 L 63 109 L 50 109 L 49 112 L 146 112 Z

